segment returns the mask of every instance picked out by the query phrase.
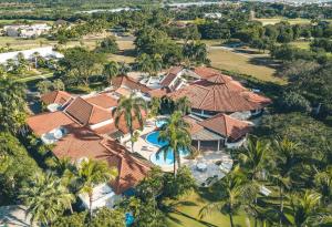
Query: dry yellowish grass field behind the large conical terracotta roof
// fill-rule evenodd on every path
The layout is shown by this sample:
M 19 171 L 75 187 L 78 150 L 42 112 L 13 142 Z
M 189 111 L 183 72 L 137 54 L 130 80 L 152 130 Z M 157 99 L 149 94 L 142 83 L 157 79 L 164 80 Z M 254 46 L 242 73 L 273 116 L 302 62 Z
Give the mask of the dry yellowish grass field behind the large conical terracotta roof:
M 248 58 L 224 49 L 210 50 L 208 58 L 211 60 L 211 66 L 220 70 L 252 75 L 262 81 L 286 83 L 282 79 L 274 76 L 276 69 L 269 66 L 271 61 L 269 58 Z

